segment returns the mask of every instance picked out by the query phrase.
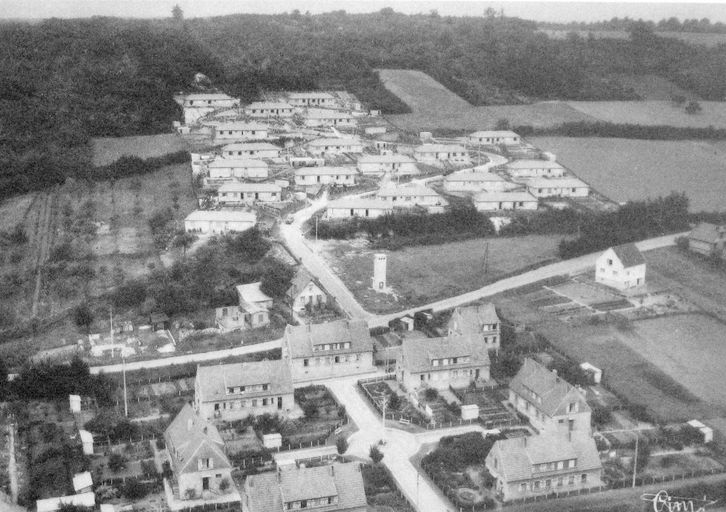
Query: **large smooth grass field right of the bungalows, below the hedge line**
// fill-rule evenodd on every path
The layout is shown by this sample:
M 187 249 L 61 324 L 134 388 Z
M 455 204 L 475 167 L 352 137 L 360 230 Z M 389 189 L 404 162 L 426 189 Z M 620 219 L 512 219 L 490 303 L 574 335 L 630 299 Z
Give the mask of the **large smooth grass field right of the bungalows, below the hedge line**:
M 532 137 L 614 201 L 685 192 L 692 211 L 726 209 L 726 144 L 610 138 Z

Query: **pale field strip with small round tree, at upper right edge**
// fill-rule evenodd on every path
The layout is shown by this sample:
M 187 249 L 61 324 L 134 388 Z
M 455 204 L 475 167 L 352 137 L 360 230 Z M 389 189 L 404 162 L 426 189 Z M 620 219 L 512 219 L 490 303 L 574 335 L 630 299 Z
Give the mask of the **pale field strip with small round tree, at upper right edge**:
M 578 112 L 609 123 L 683 128 L 726 127 L 726 103 L 700 102 L 702 111 L 687 114 L 685 107 L 671 101 L 568 101 Z

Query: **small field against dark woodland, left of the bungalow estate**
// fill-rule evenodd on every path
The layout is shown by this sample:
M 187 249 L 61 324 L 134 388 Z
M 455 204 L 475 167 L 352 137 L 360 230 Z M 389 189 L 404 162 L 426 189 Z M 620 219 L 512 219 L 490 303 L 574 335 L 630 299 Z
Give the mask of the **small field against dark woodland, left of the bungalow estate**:
M 187 149 L 184 139 L 171 133 L 92 139 L 93 165 L 108 165 L 122 156 L 150 158 Z

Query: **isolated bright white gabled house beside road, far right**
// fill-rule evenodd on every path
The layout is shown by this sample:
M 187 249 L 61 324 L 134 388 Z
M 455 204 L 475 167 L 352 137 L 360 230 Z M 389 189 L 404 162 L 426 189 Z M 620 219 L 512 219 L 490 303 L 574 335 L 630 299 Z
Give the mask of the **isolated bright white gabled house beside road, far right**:
M 625 290 L 645 284 L 645 258 L 635 244 L 611 247 L 595 262 L 595 281 Z

